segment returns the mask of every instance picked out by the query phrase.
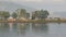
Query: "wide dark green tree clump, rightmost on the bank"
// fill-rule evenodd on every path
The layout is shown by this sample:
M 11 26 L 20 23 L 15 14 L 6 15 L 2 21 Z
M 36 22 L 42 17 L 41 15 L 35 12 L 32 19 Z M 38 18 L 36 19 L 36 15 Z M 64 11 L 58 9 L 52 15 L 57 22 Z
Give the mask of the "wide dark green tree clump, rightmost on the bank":
M 46 10 L 38 10 L 38 11 L 34 11 L 34 13 L 32 14 L 32 18 L 46 18 L 50 15 L 48 11 Z

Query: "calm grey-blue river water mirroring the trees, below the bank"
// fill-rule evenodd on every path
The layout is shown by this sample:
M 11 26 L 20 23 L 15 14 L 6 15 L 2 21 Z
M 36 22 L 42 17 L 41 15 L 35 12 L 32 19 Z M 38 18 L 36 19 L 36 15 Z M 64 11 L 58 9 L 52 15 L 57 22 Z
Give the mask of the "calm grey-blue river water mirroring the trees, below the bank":
M 0 23 L 0 37 L 66 37 L 66 23 Z

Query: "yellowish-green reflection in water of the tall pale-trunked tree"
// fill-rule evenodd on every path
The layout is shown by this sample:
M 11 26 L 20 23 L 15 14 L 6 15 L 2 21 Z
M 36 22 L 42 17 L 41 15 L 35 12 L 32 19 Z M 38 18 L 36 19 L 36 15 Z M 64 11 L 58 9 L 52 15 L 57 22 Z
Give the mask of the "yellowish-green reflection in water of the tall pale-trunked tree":
M 24 37 L 25 36 L 25 33 L 26 33 L 26 29 L 28 29 L 28 24 L 26 23 L 18 23 L 18 34 L 19 34 L 19 37 Z

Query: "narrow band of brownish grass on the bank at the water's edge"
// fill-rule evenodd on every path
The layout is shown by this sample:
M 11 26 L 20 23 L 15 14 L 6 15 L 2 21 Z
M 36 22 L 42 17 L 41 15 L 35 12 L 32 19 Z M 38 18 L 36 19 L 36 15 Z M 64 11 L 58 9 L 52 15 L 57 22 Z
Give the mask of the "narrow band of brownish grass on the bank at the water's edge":
M 0 20 L 0 22 L 50 23 L 50 22 L 66 22 L 66 20 L 15 20 L 15 21 Z

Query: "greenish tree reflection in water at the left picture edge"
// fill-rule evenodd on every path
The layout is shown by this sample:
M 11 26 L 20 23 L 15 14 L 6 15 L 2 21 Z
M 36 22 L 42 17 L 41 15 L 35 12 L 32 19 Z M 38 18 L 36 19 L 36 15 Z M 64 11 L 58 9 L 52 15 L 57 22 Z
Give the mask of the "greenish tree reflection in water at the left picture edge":
M 6 23 L 0 23 L 0 37 L 7 37 L 8 36 L 8 24 Z

